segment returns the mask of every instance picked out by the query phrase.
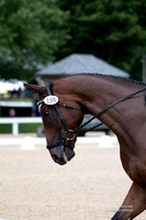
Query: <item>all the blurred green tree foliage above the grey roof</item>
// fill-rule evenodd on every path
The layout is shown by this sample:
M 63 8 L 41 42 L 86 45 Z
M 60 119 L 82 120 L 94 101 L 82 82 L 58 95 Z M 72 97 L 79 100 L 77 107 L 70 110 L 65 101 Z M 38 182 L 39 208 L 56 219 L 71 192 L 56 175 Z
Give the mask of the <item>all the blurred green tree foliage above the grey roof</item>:
M 29 78 L 37 64 L 88 53 L 141 80 L 145 0 L 1 0 L 1 76 Z

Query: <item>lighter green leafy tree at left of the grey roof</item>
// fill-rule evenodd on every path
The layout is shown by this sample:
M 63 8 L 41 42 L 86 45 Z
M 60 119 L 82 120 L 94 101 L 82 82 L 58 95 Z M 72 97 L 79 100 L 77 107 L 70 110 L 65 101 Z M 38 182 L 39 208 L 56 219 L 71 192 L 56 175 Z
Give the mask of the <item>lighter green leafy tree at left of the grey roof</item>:
M 0 1 L 0 75 L 27 78 L 69 37 L 56 0 Z

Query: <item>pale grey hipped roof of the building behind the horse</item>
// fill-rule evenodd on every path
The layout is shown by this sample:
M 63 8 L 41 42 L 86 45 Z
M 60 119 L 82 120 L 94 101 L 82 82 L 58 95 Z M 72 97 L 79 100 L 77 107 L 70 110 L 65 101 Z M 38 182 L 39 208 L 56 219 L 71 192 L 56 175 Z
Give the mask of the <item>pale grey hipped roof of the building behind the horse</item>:
M 68 76 L 74 74 L 103 74 L 130 77 L 127 73 L 90 54 L 71 54 L 59 62 L 52 65 L 48 64 L 36 73 L 40 76 Z

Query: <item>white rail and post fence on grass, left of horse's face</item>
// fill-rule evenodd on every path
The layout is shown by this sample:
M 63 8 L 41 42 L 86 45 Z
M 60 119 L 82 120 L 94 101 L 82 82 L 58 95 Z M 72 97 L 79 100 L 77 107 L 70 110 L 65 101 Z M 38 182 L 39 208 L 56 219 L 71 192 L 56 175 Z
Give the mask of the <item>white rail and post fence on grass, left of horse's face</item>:
M 12 124 L 12 134 L 19 134 L 19 123 L 42 123 L 41 117 L 1 118 L 0 124 Z

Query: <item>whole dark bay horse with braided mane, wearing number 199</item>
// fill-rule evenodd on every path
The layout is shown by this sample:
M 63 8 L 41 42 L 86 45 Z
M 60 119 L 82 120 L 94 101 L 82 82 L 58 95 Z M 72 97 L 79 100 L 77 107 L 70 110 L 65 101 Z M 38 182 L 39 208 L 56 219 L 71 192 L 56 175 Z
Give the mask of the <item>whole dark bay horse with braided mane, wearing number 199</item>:
M 56 163 L 64 165 L 74 157 L 78 128 L 86 113 L 97 116 L 116 134 L 122 165 L 133 184 L 112 220 L 132 220 L 144 211 L 146 85 L 116 77 L 80 74 L 46 86 L 24 86 L 37 95 L 47 148 Z M 133 96 L 116 102 L 133 92 Z M 106 108 L 114 102 L 116 105 Z

